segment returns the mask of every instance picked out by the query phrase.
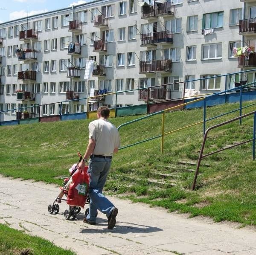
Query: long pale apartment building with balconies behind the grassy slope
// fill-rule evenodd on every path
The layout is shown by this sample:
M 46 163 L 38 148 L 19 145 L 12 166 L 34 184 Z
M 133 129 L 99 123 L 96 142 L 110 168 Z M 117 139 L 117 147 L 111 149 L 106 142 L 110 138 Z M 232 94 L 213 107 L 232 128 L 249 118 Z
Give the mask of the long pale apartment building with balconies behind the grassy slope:
M 153 100 L 233 87 L 236 77 L 225 84 L 215 76 L 244 68 L 233 48 L 254 43 L 255 34 L 239 33 L 242 2 L 255 17 L 256 1 L 249 0 L 101 0 L 2 23 L 0 111 L 9 111 L 1 121 L 17 118 L 17 107 L 34 106 L 29 111 L 38 116 L 39 104 L 45 116 L 141 104 L 143 90 L 136 89 L 144 87 L 156 87 Z M 92 59 L 93 74 L 84 80 Z M 117 99 L 90 99 L 87 109 L 83 98 L 102 90 L 119 92 Z

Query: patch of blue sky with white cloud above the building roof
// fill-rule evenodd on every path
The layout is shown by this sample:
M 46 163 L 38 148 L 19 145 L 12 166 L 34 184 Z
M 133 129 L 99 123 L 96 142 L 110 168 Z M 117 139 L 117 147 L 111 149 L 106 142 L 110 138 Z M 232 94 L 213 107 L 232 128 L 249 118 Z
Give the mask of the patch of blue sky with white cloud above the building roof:
M 0 0 L 0 23 L 89 2 L 89 0 Z

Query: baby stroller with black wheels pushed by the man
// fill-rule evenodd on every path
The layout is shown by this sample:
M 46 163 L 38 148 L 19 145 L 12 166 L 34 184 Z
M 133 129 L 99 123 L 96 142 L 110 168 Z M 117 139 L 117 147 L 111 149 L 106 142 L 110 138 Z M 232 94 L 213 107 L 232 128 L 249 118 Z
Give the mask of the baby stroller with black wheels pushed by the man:
M 80 162 L 80 161 L 82 160 L 82 156 L 81 156 L 80 152 L 78 152 L 77 154 L 78 154 L 78 156 L 80 157 L 80 159 L 79 159 L 79 162 Z M 69 171 L 70 171 L 70 177 L 67 177 L 67 178 L 64 179 L 64 182 L 63 182 L 62 186 L 60 187 L 61 192 L 60 192 L 60 193 L 58 194 L 58 196 L 55 198 L 55 200 L 54 200 L 54 202 L 52 203 L 52 205 L 50 204 L 50 205 L 48 206 L 48 212 L 49 212 L 49 214 L 58 214 L 58 212 L 59 212 L 59 210 L 60 210 L 60 207 L 59 207 L 58 203 L 61 203 L 61 200 L 67 201 L 67 199 L 64 199 L 64 198 L 62 198 L 62 197 L 65 195 L 66 198 L 67 198 L 67 195 L 68 195 L 68 190 L 67 190 L 67 188 L 68 188 L 69 184 L 72 182 L 72 180 L 70 180 L 70 179 L 72 179 L 72 178 L 71 178 L 72 175 L 76 172 L 79 162 L 76 163 L 76 164 L 74 164 L 74 165 L 69 169 Z M 87 196 L 86 204 L 88 204 L 88 203 L 90 203 L 90 198 Z M 70 206 L 70 205 L 69 205 L 69 208 L 64 211 L 64 217 L 65 217 L 66 220 L 70 220 L 70 218 L 76 219 L 76 216 L 77 216 L 77 214 L 78 214 L 80 211 L 81 211 L 81 207 L 79 207 L 79 206 Z M 86 214 L 86 215 L 87 215 L 88 213 L 89 213 L 89 208 L 87 208 L 86 211 L 85 211 L 85 214 Z

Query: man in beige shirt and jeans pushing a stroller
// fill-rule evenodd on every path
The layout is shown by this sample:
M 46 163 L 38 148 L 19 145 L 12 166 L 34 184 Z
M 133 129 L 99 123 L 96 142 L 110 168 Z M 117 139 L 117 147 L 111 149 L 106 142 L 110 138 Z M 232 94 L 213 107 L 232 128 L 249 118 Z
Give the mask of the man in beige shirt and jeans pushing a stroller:
M 90 122 L 89 143 L 78 168 L 83 169 L 85 162 L 90 158 L 88 167 L 88 173 L 91 175 L 88 191 L 90 210 L 84 218 L 84 223 L 95 225 L 99 210 L 108 217 L 108 229 L 113 229 L 116 225 L 118 209 L 102 194 L 102 190 L 108 177 L 112 156 L 120 147 L 120 137 L 116 127 L 108 121 L 109 112 L 108 107 L 99 107 L 98 119 Z

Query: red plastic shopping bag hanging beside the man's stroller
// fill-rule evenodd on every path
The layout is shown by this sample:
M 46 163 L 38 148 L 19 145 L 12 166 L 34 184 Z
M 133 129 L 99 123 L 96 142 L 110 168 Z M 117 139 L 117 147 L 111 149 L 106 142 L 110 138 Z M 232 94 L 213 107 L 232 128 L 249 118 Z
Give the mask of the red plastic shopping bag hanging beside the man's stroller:
M 70 206 L 84 208 L 90 181 L 87 169 L 88 166 L 84 167 L 84 171 L 77 169 L 71 177 L 73 182 L 70 183 L 70 188 L 67 193 L 67 204 Z

